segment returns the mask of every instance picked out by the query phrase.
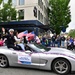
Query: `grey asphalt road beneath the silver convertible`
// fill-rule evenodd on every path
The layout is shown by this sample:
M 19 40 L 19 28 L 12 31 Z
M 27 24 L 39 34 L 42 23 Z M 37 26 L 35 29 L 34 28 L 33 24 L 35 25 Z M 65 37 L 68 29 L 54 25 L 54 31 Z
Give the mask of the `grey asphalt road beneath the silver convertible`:
M 29 68 L 0 68 L 0 75 L 58 75 L 51 71 L 29 69 Z M 75 72 L 69 75 L 75 75 Z

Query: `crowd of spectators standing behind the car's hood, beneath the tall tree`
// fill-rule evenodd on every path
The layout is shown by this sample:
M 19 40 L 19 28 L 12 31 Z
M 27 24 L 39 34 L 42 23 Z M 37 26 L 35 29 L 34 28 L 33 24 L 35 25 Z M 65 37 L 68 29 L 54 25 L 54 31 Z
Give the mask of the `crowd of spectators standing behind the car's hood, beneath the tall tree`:
M 47 47 L 75 49 L 75 38 L 72 38 L 71 36 L 65 37 L 64 35 L 53 34 L 51 37 L 50 35 L 45 35 L 41 38 L 41 43 Z

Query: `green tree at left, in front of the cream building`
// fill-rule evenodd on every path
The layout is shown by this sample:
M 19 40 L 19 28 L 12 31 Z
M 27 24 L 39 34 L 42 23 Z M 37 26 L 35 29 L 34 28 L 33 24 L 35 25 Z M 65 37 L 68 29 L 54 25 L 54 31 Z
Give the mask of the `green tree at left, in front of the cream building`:
M 12 0 L 8 0 L 7 3 L 3 2 L 3 8 L 0 9 L 0 19 L 2 22 L 8 22 L 16 20 L 17 11 L 12 7 Z

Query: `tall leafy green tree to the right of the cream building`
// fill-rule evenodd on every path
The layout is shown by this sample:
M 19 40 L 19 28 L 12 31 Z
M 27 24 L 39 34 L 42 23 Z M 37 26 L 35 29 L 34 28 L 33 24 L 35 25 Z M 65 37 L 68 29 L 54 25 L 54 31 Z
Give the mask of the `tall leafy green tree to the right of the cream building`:
M 49 21 L 50 27 L 60 34 L 63 28 L 67 28 L 71 21 L 70 0 L 49 0 Z

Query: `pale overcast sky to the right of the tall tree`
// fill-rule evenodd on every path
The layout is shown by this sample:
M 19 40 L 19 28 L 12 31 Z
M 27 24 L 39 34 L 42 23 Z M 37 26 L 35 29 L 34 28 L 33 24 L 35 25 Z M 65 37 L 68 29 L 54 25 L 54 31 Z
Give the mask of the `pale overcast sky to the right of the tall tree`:
M 66 32 L 69 32 L 70 29 L 75 29 L 75 0 L 70 1 L 70 11 L 71 11 L 71 22 Z

